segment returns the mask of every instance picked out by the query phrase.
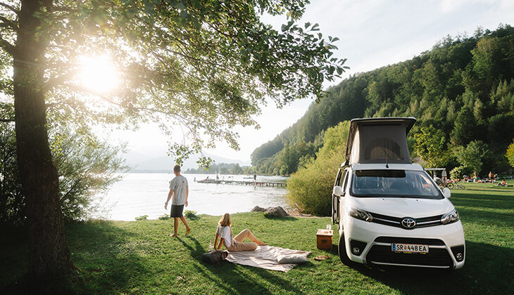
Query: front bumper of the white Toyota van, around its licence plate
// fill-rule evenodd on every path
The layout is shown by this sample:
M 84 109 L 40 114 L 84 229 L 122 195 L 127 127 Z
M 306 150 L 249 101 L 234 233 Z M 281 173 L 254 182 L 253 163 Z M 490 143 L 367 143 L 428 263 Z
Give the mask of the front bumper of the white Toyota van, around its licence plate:
M 351 261 L 423 268 L 462 268 L 465 240 L 460 221 L 406 230 L 345 216 L 346 255 Z M 340 232 L 341 233 L 341 232 Z M 392 251 L 391 244 L 425 244 L 426 254 Z

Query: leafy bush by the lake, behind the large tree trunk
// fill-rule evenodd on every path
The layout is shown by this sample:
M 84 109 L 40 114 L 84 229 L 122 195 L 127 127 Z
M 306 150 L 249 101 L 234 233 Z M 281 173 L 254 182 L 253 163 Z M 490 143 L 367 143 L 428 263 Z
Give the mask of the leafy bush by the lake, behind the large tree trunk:
M 119 157 L 123 147 L 97 140 L 87 131 L 60 129 L 51 134 L 59 176 L 59 199 L 68 221 L 104 214 L 101 194 L 127 171 Z M 0 224 L 24 225 L 26 201 L 16 164 L 16 140 L 11 124 L 0 125 Z M 94 202 L 96 201 L 96 202 Z

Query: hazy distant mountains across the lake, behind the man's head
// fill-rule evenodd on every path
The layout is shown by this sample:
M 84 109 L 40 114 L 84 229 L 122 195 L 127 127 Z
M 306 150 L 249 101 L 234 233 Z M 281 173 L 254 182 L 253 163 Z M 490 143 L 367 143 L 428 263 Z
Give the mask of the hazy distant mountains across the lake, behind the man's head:
M 228 159 L 225 157 L 218 157 L 215 155 L 211 155 L 206 153 L 206 157 L 211 157 L 215 161 L 215 163 L 234 163 L 239 164 L 239 166 L 249 166 L 250 162 L 240 161 L 237 159 Z M 161 156 L 155 157 L 154 154 L 143 154 L 141 152 L 127 152 L 124 155 L 127 164 L 132 167 L 131 172 L 165 172 L 171 171 L 173 166 L 175 165 L 175 161 L 172 157 Z M 187 159 L 184 164 L 182 164 L 182 170 L 185 169 L 196 169 L 198 168 L 198 164 L 196 161 L 199 159 L 200 155 L 194 155 Z

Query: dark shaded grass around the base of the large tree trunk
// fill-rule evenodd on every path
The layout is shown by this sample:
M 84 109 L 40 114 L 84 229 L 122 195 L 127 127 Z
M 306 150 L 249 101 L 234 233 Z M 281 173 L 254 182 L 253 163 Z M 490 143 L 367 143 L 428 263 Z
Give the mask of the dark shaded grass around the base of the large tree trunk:
M 125 289 L 132 277 L 146 273 L 142 258 L 124 247 L 134 234 L 113 226 L 109 221 L 68 224 L 66 235 L 72 261 L 80 271 L 74 270 L 70 280 L 51 282 L 57 292 L 101 294 L 106 290 Z M 5 251 L 4 246 L 0 251 Z M 31 278 L 25 276 L 29 267 L 26 239 L 23 240 L 22 251 L 24 253 L 14 256 L 18 263 L 2 263 L 2 272 L 7 275 L 2 277 L 1 289 L 6 288 L 7 294 L 34 291 L 30 287 Z

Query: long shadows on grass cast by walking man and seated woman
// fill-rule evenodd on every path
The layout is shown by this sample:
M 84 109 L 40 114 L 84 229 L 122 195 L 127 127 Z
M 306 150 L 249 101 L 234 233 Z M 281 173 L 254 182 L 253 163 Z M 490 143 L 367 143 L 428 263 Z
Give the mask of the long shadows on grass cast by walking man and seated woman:
M 206 265 L 201 262 L 201 254 L 205 251 L 201 243 L 194 237 L 186 237 L 181 239 L 177 237 L 184 247 L 190 252 L 191 256 L 199 261 L 194 265 L 198 273 L 209 281 L 214 282 L 222 293 L 228 294 L 269 294 L 270 289 L 288 290 L 294 294 L 303 294 L 303 292 L 294 287 L 292 282 L 282 279 L 274 275 L 271 270 L 262 268 L 253 268 L 250 266 L 237 267 L 233 263 L 227 261 L 219 265 Z M 194 245 L 187 243 L 187 240 L 193 242 Z M 203 266 L 203 267 L 202 267 Z M 261 280 L 258 280 L 258 277 Z M 269 285 L 263 285 L 262 280 Z M 215 290 L 211 290 L 216 292 Z

